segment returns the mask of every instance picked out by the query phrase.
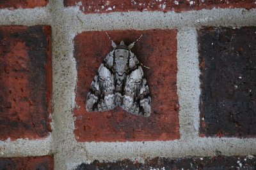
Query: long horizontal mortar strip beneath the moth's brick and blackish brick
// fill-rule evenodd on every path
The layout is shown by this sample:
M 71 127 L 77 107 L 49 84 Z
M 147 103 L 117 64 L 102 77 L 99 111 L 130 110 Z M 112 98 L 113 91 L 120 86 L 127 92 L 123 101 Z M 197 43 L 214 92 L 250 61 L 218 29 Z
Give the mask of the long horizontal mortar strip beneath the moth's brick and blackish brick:
M 145 141 L 124 143 L 77 143 L 76 148 L 86 148 L 87 161 L 113 162 L 122 159 L 147 159 L 148 157 L 213 157 L 216 155 L 255 155 L 256 138 L 193 138 L 175 141 Z M 74 148 L 73 148 L 74 149 Z M 76 153 L 73 153 L 76 155 Z M 78 162 L 84 160 L 77 160 Z

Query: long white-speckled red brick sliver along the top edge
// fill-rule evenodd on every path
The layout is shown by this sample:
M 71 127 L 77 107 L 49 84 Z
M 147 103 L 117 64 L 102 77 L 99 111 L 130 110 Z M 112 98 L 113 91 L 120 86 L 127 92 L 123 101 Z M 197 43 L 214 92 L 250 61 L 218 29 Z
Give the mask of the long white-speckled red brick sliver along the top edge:
M 113 11 L 188 11 L 212 8 L 256 8 L 254 0 L 64 0 L 65 6 L 82 3 L 80 10 L 84 13 L 108 13 Z M 111 8 L 111 9 L 110 9 Z

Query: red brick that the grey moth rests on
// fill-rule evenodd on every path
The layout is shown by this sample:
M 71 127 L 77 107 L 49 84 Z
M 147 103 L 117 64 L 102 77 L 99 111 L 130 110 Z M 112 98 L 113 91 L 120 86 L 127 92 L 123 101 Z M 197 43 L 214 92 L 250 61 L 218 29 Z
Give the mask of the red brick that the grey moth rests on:
M 113 50 L 105 32 L 83 32 L 74 39 L 77 62 L 77 90 L 74 134 L 77 141 L 155 141 L 179 139 L 177 74 L 177 31 L 108 31 L 116 43 L 126 45 L 140 34 L 142 38 L 132 52 L 150 69 L 144 68 L 152 97 L 152 114 L 140 117 L 122 108 L 90 112 L 85 109 L 86 96 L 93 76 L 104 57 Z

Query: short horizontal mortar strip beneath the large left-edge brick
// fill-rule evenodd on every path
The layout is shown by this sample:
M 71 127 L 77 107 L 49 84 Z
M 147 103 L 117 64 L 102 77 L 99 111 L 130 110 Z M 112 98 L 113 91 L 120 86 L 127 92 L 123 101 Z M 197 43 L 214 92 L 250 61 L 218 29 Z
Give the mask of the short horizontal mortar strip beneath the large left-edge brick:
M 51 154 L 52 136 L 45 139 L 17 139 L 0 141 L 0 157 L 28 157 Z

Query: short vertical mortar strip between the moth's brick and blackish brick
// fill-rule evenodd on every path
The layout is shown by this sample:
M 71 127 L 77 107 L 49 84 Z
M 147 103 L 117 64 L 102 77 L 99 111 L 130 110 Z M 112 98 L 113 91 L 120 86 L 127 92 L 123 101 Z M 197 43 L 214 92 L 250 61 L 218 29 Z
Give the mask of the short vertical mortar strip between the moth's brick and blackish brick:
M 179 96 L 180 139 L 198 138 L 200 71 L 195 28 L 179 29 L 177 34 L 177 93 Z

